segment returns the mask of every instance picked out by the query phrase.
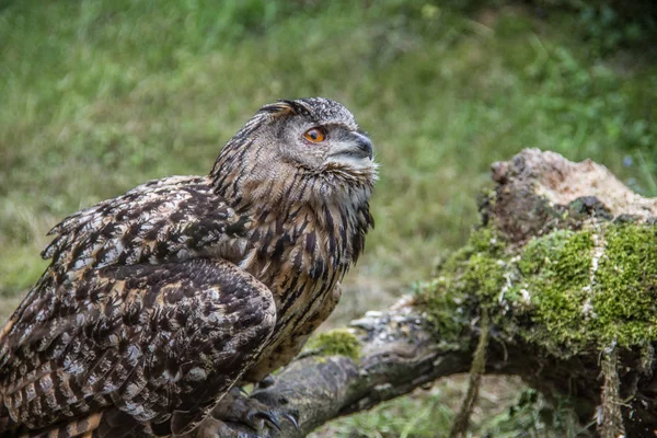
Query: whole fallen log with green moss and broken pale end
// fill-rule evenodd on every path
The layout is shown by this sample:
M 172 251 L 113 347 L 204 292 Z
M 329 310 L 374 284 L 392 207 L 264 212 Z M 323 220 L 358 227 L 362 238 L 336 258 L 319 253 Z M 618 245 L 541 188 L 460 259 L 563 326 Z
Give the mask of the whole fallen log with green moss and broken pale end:
M 482 332 L 485 372 L 569 396 L 600 436 L 655 436 L 657 200 L 596 163 L 539 150 L 494 164 L 493 180 L 481 228 L 434 279 L 385 312 L 315 337 L 254 391 L 295 415 L 298 429 L 231 424 L 235 436 L 301 437 L 466 372 Z

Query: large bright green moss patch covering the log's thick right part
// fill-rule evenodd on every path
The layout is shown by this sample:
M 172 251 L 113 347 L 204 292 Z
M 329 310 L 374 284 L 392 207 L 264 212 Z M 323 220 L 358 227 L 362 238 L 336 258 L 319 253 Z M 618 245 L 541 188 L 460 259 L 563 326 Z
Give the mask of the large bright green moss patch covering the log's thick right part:
M 655 242 L 655 226 L 604 223 L 555 230 L 518 250 L 481 229 L 418 302 L 441 339 L 458 339 L 488 309 L 496 331 L 558 356 L 645 345 L 657 339 Z

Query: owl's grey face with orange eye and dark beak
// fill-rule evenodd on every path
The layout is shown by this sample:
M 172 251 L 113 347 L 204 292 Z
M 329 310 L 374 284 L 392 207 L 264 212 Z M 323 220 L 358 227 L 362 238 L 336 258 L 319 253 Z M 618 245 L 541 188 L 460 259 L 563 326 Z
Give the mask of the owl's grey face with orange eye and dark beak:
M 372 143 L 358 129 L 354 115 L 337 102 L 301 99 L 266 105 L 273 117 L 272 142 L 284 162 L 311 173 L 373 171 Z

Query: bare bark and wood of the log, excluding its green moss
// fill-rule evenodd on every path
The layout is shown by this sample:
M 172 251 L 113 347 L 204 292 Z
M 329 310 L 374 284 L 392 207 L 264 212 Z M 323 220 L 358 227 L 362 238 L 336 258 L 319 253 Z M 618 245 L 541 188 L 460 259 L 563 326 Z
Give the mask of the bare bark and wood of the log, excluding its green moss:
M 631 192 L 591 161 L 572 163 L 556 153 L 531 149 L 508 162 L 495 163 L 492 171 L 496 185 L 481 200 L 483 223 L 494 226 L 517 249 L 555 229 L 578 230 L 598 221 L 657 222 L 656 199 Z M 242 437 L 303 437 L 333 418 L 368 410 L 441 377 L 468 372 L 482 332 L 476 309 L 481 299 L 459 319 L 456 341 L 443 338 L 435 328 L 436 322 L 427 321 L 420 301 L 406 297 L 389 310 L 370 311 L 353 321 L 347 330 L 360 344 L 357 359 L 307 353 L 276 374 L 272 385 L 253 392 L 254 399 L 273 410 L 293 415 L 298 428 L 288 422 L 281 423 L 281 430 L 255 431 L 237 423 L 228 426 Z M 453 324 L 452 315 L 443 318 Z M 623 427 L 629 437 L 655 436 L 657 379 L 652 339 L 641 349 L 604 353 L 591 348 L 560 357 L 504 327 L 493 326 L 491 333 L 487 373 L 520 376 L 549 396 L 576 397 L 583 420 L 602 413 L 602 436 Z M 601 355 L 613 361 L 601 360 Z M 602 370 L 604 364 L 608 368 L 613 365 L 611 371 Z M 604 414 L 606 408 L 613 415 Z

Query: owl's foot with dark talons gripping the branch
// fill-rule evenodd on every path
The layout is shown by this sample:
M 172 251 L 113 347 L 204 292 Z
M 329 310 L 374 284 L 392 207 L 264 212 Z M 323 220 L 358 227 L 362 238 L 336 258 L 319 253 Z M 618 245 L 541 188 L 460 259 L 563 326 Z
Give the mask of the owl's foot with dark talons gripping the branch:
M 210 416 L 219 423 L 241 423 L 254 430 L 274 427 L 280 430 L 280 424 L 287 419 L 299 428 L 297 418 L 287 412 L 273 408 L 255 399 L 244 395 L 240 389 L 233 388 L 215 408 Z

